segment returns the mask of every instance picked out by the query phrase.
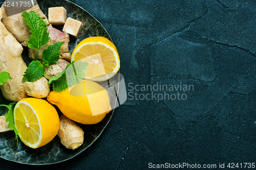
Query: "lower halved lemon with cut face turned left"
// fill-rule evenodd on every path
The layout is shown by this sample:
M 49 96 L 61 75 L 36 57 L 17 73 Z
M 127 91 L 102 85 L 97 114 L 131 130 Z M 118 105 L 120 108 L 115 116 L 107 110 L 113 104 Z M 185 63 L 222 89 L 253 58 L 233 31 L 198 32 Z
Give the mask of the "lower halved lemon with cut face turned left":
M 18 101 L 13 117 L 20 140 L 30 148 L 39 148 L 49 143 L 59 130 L 56 109 L 42 99 L 26 98 Z

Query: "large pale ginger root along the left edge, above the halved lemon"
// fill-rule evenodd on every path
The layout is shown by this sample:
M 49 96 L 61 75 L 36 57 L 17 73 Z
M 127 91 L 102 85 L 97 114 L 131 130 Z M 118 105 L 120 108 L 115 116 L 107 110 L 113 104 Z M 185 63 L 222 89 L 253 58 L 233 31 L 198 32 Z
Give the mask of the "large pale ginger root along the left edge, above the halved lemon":
M 37 86 L 36 88 L 28 91 L 30 96 L 45 98 L 50 93 L 50 85 L 48 85 L 45 77 L 41 77 L 35 82 L 22 81 L 24 72 L 28 68 L 22 58 L 22 52 L 22 45 L 0 21 L 0 73 L 7 71 L 12 78 L 0 86 L 4 97 L 9 101 L 18 102 L 28 98 L 28 93 L 24 87 L 26 84 L 37 84 L 34 85 L 34 87 Z

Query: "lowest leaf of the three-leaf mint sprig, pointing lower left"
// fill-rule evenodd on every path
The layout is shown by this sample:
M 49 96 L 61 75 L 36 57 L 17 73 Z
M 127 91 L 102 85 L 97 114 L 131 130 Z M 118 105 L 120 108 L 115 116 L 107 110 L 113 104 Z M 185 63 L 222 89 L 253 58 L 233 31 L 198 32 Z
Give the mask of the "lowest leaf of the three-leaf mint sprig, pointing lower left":
M 45 75 L 45 67 L 40 61 L 32 61 L 23 75 L 23 81 L 33 82 Z

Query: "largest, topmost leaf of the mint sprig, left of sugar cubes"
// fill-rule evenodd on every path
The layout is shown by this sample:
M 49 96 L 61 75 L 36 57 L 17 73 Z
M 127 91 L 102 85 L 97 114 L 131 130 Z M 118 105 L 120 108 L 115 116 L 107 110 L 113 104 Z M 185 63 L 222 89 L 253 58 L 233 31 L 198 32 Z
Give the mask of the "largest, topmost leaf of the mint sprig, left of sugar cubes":
M 47 33 L 47 23 L 39 14 L 36 14 L 34 11 L 27 13 L 26 11 L 22 13 L 24 20 L 30 28 L 30 39 L 28 40 L 28 47 L 40 49 L 42 45 L 45 45 L 49 42 L 49 33 Z

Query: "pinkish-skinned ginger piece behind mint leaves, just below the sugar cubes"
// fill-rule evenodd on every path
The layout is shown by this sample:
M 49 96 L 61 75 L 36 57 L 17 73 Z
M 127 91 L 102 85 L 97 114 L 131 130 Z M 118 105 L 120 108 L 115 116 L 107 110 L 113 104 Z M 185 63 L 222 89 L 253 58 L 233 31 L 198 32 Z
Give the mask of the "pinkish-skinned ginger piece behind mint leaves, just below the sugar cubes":
M 46 45 L 41 46 L 41 48 L 39 49 L 38 60 L 42 60 L 42 52 L 44 52 L 48 46 L 56 42 L 64 41 L 59 50 L 59 58 L 70 61 L 71 54 L 69 53 L 69 34 L 59 31 L 53 28 L 51 25 L 47 28 L 47 32 L 49 33 L 50 40 Z M 31 60 L 35 60 L 36 49 L 29 48 L 29 58 Z

